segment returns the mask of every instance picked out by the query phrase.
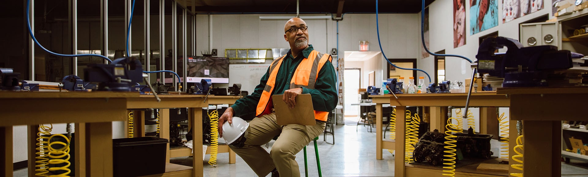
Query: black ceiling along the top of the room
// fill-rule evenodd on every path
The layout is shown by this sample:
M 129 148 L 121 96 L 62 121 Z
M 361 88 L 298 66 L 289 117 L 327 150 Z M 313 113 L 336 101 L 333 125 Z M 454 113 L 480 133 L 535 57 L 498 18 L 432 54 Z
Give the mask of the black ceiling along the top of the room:
M 43 14 L 46 19 L 67 18 L 69 0 L 32 0 L 35 16 Z M 193 1 L 193 2 L 192 2 Z M 426 0 L 426 5 L 435 0 Z M 78 0 L 78 16 L 99 16 L 101 0 Z M 109 15 L 124 15 L 125 1 L 109 0 Z M 135 2 L 135 15 L 143 14 L 145 1 Z M 159 0 L 150 0 L 151 14 L 159 14 Z M 166 14 L 171 14 L 172 0 L 165 0 Z M 252 14 L 296 14 L 296 0 L 177 0 L 179 6 L 196 13 L 252 13 Z M 300 14 L 375 13 L 376 0 L 299 0 Z M 0 6 L 0 16 L 21 17 L 24 14 L 22 1 L 7 1 Z M 192 7 L 193 6 L 193 7 Z M 380 13 L 413 14 L 420 12 L 421 0 L 379 0 Z M 343 16 L 344 17 L 344 16 Z

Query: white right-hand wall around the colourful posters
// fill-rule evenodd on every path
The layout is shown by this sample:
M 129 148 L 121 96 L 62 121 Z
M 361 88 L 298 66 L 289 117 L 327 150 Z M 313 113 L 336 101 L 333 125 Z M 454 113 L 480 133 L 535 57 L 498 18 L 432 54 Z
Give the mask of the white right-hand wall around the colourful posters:
M 479 32 L 478 34 L 470 35 L 469 23 L 470 8 L 469 1 L 466 1 L 466 45 L 458 48 L 453 48 L 453 1 L 452 0 L 437 0 L 429 5 L 429 51 L 437 52 L 445 49 L 445 54 L 457 54 L 463 55 L 472 61 L 476 61 L 477 49 L 479 47 L 479 38 L 498 31 L 499 36 L 513 38 L 519 40 L 519 24 L 531 19 L 537 18 L 549 14 L 549 18 L 553 18 L 551 15 L 552 7 L 551 1 L 543 0 L 543 9 L 534 12 L 529 15 L 525 15 L 521 18 L 517 18 L 513 21 L 502 23 L 502 1 L 493 0 L 498 2 L 498 26 L 487 29 L 486 31 Z M 420 14 L 419 14 L 420 18 Z M 419 19 L 420 21 L 420 19 Z M 419 25 L 420 33 L 420 25 Z M 420 37 L 420 34 L 419 34 Z M 419 39 L 420 40 L 420 39 Z M 420 49 L 419 49 L 420 51 Z M 499 50 L 500 52 L 506 51 L 505 49 Z M 433 56 L 419 59 L 418 67 L 429 75 L 435 73 L 433 71 L 434 64 Z M 463 81 L 465 78 L 470 78 L 472 70 L 467 64 L 467 61 L 461 58 L 447 57 L 445 59 L 445 77 L 451 81 L 460 80 Z M 417 74 L 419 76 L 425 76 L 422 72 Z

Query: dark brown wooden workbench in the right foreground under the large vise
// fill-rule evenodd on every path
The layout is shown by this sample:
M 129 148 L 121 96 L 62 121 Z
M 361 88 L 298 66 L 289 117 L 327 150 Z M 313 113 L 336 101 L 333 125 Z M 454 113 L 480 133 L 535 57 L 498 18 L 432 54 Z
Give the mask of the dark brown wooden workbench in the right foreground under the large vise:
M 524 176 L 561 176 L 562 121 L 587 120 L 582 110 L 588 86 L 499 88 L 497 93 L 510 97 L 511 119 L 523 121 Z M 512 145 L 516 133 L 510 134 Z

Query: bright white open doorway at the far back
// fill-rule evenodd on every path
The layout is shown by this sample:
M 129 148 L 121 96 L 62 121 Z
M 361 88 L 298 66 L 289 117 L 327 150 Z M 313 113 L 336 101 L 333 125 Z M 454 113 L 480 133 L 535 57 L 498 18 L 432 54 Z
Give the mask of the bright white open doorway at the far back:
M 343 93 L 345 99 L 345 116 L 348 117 L 357 117 L 359 113 L 359 106 L 358 105 L 351 105 L 353 103 L 359 103 L 359 85 L 360 85 L 360 78 L 361 78 L 361 70 L 359 68 L 345 68 L 344 73 L 344 91 Z

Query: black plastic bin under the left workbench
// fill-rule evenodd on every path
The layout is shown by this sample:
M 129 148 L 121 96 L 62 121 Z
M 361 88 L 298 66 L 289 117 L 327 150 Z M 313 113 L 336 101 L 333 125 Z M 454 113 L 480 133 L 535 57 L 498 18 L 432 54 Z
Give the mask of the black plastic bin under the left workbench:
M 114 176 L 145 176 L 165 173 L 168 139 L 155 137 L 112 139 Z

